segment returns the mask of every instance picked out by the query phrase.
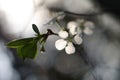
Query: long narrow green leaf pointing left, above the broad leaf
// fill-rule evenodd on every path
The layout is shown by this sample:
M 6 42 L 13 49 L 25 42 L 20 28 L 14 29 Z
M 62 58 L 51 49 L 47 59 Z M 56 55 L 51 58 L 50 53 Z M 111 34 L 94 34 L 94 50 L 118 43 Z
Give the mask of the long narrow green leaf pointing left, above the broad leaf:
M 33 38 L 24 38 L 24 39 L 18 39 L 18 40 L 13 40 L 11 42 L 7 43 L 7 46 L 10 48 L 18 48 L 20 46 L 23 46 L 25 44 L 33 42 L 35 37 Z

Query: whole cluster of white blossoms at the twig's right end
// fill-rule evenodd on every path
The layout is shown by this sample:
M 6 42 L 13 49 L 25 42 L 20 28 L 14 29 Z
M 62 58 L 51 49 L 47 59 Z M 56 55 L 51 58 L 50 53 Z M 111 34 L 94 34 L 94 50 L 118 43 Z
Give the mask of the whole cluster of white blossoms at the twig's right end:
M 82 34 L 91 35 L 93 34 L 94 23 L 91 21 L 81 22 L 70 21 L 67 23 L 66 28 L 62 28 L 58 35 L 60 39 L 55 42 L 55 47 L 57 50 L 65 49 L 67 54 L 75 53 L 75 46 L 80 45 L 83 42 Z

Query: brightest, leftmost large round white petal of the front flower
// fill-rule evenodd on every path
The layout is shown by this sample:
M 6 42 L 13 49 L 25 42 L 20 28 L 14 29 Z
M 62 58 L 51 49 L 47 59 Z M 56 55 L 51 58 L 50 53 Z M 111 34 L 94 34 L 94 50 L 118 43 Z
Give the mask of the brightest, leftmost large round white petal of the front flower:
M 57 50 L 63 50 L 67 45 L 67 41 L 64 39 L 59 39 L 55 42 L 55 47 Z

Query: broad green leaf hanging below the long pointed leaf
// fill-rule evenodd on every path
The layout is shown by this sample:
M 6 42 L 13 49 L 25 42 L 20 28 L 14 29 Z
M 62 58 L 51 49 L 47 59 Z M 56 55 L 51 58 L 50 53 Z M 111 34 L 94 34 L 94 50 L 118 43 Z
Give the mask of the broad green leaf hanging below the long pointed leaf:
M 30 43 L 17 48 L 17 54 L 22 59 L 34 59 L 37 54 L 37 43 Z

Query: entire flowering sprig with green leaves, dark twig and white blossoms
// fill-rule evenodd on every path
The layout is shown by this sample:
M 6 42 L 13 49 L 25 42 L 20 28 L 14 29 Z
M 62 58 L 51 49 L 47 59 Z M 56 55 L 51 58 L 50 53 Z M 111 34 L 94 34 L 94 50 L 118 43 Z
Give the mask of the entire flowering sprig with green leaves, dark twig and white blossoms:
M 82 44 L 84 34 L 93 34 L 95 25 L 92 21 L 79 19 L 76 21 L 69 21 L 66 24 L 66 27 L 63 27 L 60 21 L 63 20 L 64 17 L 64 12 L 57 13 L 55 17 L 53 17 L 49 22 L 47 22 L 47 24 L 45 24 L 51 25 L 51 23 L 56 23 L 60 28 L 60 31 L 58 33 L 54 33 L 54 31 L 51 29 L 47 29 L 46 33 L 40 33 L 38 27 L 33 24 L 32 28 L 35 32 L 35 37 L 13 40 L 11 42 L 8 42 L 7 46 L 10 48 L 16 48 L 17 55 L 23 60 L 26 58 L 34 59 L 38 51 L 38 44 L 40 45 L 40 52 L 45 52 L 44 45 L 48 37 L 55 35 L 60 37 L 60 39 L 55 42 L 56 49 L 65 49 L 65 52 L 67 54 L 74 54 L 76 51 L 75 45 Z

